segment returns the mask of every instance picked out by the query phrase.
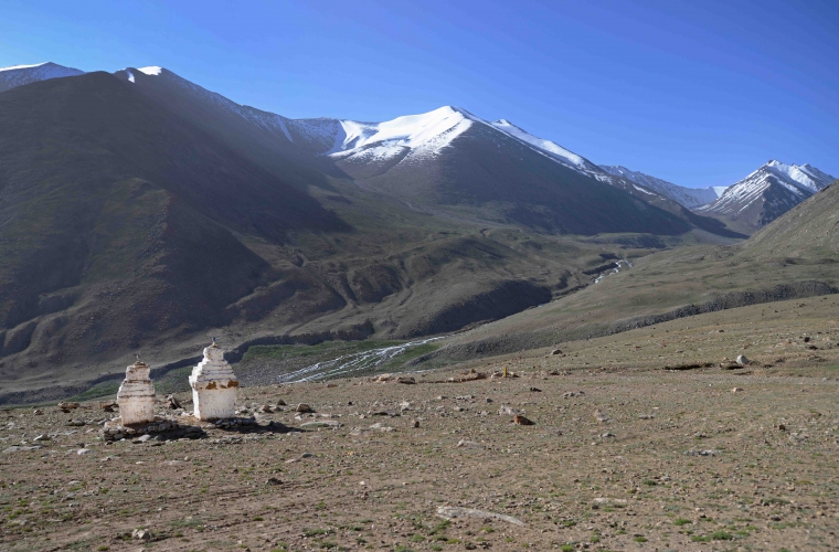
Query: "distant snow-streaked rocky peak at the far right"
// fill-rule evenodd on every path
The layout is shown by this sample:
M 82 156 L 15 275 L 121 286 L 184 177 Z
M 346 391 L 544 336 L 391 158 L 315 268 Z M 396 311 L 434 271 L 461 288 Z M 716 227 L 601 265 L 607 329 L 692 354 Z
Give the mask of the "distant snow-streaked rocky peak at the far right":
M 809 164 L 771 160 L 731 185 L 713 203 L 697 210 L 750 229 L 760 229 L 786 213 L 835 179 Z

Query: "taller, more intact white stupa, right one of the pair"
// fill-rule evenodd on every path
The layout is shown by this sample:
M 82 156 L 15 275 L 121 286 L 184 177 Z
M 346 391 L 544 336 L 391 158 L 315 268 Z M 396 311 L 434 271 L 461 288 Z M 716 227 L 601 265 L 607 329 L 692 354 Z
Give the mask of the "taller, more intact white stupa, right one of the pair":
M 204 360 L 192 369 L 190 386 L 195 408 L 192 415 L 197 418 L 214 421 L 235 415 L 238 380 L 215 338 L 213 344 L 204 349 Z

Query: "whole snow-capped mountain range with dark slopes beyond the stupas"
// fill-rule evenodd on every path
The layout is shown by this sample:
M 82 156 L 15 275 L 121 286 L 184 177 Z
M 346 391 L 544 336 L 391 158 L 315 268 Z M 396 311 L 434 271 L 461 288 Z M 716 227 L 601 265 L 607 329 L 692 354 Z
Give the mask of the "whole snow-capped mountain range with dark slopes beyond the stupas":
M 714 199 L 458 107 L 290 119 L 162 67 L 17 66 L 0 92 L 0 381 L 21 393 L 211 335 L 452 332 L 754 227 L 718 209 L 742 182 Z M 830 179 L 784 167 L 765 180 L 799 201 Z

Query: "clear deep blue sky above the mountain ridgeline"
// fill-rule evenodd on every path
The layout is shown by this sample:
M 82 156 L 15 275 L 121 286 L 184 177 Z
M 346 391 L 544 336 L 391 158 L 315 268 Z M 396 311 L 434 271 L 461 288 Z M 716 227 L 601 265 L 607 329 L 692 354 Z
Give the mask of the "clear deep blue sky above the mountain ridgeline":
M 839 1 L 4 0 L 0 66 L 161 65 L 288 117 L 443 105 L 594 162 L 724 185 L 839 177 Z

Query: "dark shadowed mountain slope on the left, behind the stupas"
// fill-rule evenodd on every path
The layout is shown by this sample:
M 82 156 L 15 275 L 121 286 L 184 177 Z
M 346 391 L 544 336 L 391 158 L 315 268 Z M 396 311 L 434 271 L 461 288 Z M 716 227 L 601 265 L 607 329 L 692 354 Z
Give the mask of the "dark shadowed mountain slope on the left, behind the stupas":
M 38 341 L 91 359 L 223 325 L 269 272 L 233 232 L 349 230 L 106 73 L 0 94 L 0 160 L 2 357 Z

